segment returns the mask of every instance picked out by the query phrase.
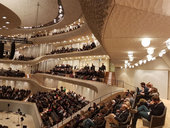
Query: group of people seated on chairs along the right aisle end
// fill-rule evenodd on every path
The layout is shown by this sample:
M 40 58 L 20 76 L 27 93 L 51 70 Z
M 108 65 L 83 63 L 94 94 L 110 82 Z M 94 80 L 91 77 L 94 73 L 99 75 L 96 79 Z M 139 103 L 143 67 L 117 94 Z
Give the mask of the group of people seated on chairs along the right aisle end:
M 163 114 L 165 105 L 159 98 L 159 92 L 151 83 L 141 83 L 141 89 L 137 88 L 135 101 L 136 109 L 132 119 L 131 128 L 136 128 L 137 120 L 142 117 L 150 121 L 151 116 L 160 116 Z

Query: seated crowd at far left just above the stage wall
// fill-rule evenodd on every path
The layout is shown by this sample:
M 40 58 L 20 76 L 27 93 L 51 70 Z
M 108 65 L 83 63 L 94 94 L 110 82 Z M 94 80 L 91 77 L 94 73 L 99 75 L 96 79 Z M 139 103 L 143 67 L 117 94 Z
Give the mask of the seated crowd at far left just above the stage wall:
M 24 100 L 30 95 L 30 90 L 16 89 L 11 86 L 0 86 L 0 99 Z

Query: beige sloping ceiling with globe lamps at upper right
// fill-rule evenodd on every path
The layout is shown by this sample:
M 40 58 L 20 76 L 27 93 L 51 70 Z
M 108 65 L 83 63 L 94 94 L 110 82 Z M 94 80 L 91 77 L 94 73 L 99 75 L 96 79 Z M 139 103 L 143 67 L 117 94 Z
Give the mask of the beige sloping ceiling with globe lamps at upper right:
M 169 7 L 170 0 L 116 0 L 102 42 L 116 66 L 124 65 L 128 51 L 134 52 L 132 64 L 146 58 L 146 48 L 141 45 L 144 37 L 151 38 L 154 56 L 166 48 L 165 41 L 170 38 Z

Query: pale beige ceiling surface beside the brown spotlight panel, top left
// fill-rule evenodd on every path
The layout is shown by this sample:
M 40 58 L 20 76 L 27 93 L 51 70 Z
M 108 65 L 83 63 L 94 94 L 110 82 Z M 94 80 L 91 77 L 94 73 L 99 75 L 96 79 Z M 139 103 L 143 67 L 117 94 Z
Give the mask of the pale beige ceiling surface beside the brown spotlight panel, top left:
M 21 19 L 21 26 L 36 26 L 37 4 L 39 3 L 38 23 L 45 24 L 53 20 L 58 13 L 57 0 L 0 0 Z M 50 15 L 49 15 L 50 13 Z

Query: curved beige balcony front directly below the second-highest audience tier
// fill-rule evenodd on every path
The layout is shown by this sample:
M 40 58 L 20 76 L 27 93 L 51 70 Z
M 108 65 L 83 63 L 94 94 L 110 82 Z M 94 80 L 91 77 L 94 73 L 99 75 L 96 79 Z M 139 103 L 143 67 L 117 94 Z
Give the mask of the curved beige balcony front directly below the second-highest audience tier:
M 0 60 L 0 63 L 8 63 L 8 64 L 20 64 L 20 65 L 33 65 L 37 64 L 41 61 L 54 59 L 54 58 L 64 58 L 64 57 L 79 57 L 79 56 L 92 56 L 92 55 L 106 55 L 105 51 L 103 50 L 102 46 L 99 45 L 96 48 L 88 51 L 81 51 L 81 52 L 72 52 L 72 53 L 63 53 L 63 54 L 53 54 L 53 55 L 44 55 L 37 57 L 34 60 L 30 61 L 18 61 L 18 60 Z

